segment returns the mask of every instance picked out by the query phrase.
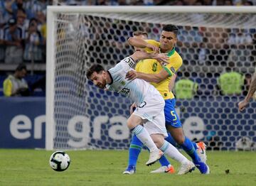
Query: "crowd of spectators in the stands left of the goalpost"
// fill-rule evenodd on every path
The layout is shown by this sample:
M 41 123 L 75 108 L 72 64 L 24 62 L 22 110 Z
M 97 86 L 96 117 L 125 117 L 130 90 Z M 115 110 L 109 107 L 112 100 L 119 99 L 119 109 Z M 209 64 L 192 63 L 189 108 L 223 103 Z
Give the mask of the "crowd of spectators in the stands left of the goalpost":
M 46 1 L 0 1 L 0 61 L 45 62 Z

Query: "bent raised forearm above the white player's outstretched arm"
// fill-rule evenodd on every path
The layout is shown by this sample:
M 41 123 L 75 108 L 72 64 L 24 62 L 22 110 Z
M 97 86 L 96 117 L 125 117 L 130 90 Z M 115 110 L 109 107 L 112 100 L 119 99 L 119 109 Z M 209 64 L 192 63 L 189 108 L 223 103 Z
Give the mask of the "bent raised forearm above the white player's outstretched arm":
M 134 47 L 137 48 L 148 48 L 149 50 L 152 50 L 153 53 L 159 53 L 160 49 L 159 49 L 159 45 L 157 44 L 157 42 L 154 40 L 150 40 L 151 42 L 147 42 L 147 40 L 143 40 L 140 38 L 133 38 L 130 37 L 128 38 L 128 43 Z

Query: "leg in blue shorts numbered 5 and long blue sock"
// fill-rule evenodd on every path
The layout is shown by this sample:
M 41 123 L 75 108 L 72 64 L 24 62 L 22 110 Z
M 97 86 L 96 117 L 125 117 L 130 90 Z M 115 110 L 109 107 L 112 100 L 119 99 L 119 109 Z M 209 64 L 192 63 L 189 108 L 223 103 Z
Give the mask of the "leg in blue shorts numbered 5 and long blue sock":
M 200 170 L 202 174 L 209 173 L 209 168 L 206 163 L 203 163 L 201 158 L 198 156 L 196 151 L 196 143 L 192 142 L 189 138 L 184 136 L 183 130 L 181 128 L 181 121 L 175 111 L 175 99 L 169 100 L 165 106 L 165 116 L 166 116 L 166 128 L 167 131 L 171 133 L 171 136 L 176 141 L 177 145 L 183 148 L 186 153 L 191 156 L 193 163 Z M 171 137 L 169 137 L 171 139 Z

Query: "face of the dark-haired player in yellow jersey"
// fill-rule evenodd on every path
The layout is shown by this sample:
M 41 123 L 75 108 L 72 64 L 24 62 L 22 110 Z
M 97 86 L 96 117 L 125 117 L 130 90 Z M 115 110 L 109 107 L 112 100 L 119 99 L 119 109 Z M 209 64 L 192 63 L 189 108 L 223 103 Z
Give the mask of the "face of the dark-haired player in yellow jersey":
M 177 41 L 176 35 L 173 32 L 162 31 L 160 38 L 160 48 L 162 53 L 169 52 L 174 48 Z

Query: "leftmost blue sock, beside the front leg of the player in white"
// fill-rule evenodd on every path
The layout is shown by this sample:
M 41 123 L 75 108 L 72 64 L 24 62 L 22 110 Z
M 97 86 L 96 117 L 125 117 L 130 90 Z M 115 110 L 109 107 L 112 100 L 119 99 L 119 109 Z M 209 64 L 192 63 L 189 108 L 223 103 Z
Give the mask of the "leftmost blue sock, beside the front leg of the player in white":
M 142 141 L 140 141 L 136 135 L 132 135 L 132 141 L 129 146 L 129 166 L 136 167 L 139 153 L 142 151 L 142 146 Z

